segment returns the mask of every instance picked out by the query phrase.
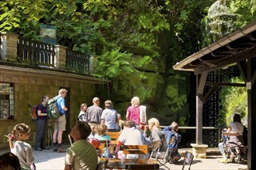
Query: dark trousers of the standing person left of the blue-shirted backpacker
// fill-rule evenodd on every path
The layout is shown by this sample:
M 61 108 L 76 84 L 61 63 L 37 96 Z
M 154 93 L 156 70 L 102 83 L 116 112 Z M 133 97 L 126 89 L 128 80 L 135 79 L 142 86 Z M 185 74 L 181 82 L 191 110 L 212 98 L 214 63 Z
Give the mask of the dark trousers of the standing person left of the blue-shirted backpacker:
M 44 137 L 47 131 L 47 120 L 36 120 L 36 145 L 35 148 L 45 148 Z

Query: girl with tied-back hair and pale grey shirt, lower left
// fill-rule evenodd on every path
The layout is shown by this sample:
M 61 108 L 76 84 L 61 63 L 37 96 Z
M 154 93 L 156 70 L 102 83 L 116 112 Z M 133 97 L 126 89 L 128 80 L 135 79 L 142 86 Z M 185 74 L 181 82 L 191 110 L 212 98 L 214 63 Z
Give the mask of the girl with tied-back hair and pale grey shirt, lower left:
M 33 157 L 33 150 L 31 145 L 25 141 L 29 139 L 30 128 L 26 124 L 16 124 L 9 134 L 9 146 L 11 152 L 19 158 L 22 168 L 36 169 L 34 165 L 35 158 Z M 31 168 L 32 167 L 32 168 Z

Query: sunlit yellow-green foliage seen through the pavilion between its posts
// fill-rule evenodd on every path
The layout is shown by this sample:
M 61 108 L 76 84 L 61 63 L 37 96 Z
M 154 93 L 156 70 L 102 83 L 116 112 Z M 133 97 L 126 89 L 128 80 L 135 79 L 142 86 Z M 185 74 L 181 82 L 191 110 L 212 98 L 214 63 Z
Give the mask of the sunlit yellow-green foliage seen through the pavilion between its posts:
M 240 77 L 234 77 L 231 83 L 244 83 Z M 247 117 L 247 90 L 244 87 L 222 87 L 220 92 L 221 110 L 219 126 L 227 126 L 230 124 L 234 113 L 238 113 L 241 117 Z

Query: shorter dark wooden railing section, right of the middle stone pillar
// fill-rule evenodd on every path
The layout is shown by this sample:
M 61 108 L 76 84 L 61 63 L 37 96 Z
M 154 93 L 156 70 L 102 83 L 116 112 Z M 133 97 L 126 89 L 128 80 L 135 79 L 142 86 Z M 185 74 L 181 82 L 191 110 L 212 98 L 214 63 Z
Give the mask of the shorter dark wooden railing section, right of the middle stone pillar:
M 67 49 L 66 67 L 80 73 L 88 73 L 90 56 Z

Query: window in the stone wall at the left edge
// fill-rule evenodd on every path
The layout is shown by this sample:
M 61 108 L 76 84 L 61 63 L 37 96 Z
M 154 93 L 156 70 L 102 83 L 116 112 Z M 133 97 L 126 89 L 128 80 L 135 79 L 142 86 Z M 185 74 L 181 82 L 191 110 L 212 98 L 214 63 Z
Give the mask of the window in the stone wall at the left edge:
M 0 119 L 13 119 L 14 95 L 12 83 L 0 82 Z

